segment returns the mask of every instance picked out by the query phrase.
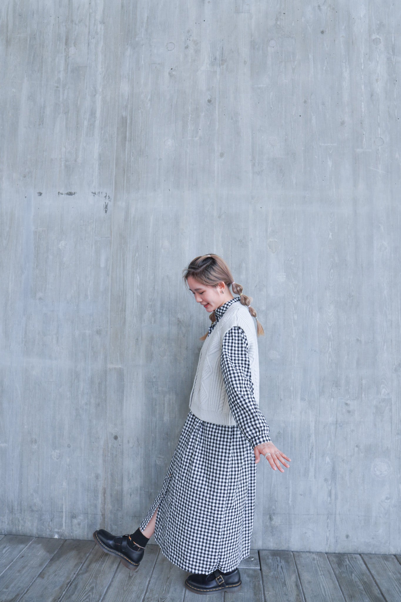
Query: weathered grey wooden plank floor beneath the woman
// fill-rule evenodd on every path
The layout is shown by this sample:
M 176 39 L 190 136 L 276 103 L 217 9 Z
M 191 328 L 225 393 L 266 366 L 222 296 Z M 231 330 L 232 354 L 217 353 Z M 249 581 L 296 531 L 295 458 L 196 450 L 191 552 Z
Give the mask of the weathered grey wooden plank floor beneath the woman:
M 401 557 L 252 550 L 240 566 L 242 589 L 210 602 L 400 602 Z M 129 571 L 94 541 L 0 535 L 1 602 L 192 602 L 158 545 Z

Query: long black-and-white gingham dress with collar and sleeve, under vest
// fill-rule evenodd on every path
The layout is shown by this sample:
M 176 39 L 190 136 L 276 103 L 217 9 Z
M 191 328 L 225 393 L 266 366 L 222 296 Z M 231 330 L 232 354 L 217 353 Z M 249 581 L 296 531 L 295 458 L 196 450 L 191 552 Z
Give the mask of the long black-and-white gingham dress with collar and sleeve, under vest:
M 215 310 L 209 334 L 239 299 Z M 249 556 L 257 467 L 253 448 L 271 440 L 254 399 L 248 341 L 239 326 L 224 335 L 221 370 L 236 425 L 206 422 L 189 411 L 163 486 L 139 525 L 143 531 L 159 506 L 155 541 L 164 556 L 190 573 L 227 573 Z

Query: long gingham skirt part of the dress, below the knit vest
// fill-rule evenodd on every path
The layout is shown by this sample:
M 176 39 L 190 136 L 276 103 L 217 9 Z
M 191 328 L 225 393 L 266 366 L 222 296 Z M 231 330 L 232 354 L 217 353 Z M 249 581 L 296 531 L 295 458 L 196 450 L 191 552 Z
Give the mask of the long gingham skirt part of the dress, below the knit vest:
M 200 420 L 189 411 L 161 490 L 155 541 L 164 556 L 190 573 L 233 571 L 249 556 L 256 463 L 237 426 Z

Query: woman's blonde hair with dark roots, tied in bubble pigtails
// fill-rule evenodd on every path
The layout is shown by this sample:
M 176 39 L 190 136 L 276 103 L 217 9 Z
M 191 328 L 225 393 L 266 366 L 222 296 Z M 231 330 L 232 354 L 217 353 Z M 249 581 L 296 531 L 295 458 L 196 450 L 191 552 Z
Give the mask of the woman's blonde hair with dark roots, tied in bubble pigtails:
M 192 259 L 189 263 L 188 267 L 183 270 L 183 279 L 185 281 L 185 287 L 189 290 L 187 279 L 191 276 L 198 282 L 201 282 L 204 286 L 216 287 L 219 282 L 224 282 L 227 287 L 232 285 L 233 293 L 239 295 L 240 302 L 242 305 L 248 306 L 249 314 L 251 314 L 254 318 L 256 318 L 256 311 L 253 307 L 251 307 L 252 297 L 248 297 L 242 293 L 242 286 L 233 281 L 233 275 L 230 272 L 230 268 L 225 263 L 224 259 L 219 257 L 219 255 L 213 255 L 213 253 L 209 253 L 208 255 L 199 255 Z M 215 312 L 209 315 L 209 319 L 214 323 L 216 321 Z M 265 330 L 263 330 L 263 326 L 260 321 L 256 318 L 256 326 L 257 326 L 257 337 L 259 335 L 264 335 Z M 207 330 L 206 334 L 203 337 L 200 337 L 201 341 L 204 341 L 209 334 L 209 330 Z

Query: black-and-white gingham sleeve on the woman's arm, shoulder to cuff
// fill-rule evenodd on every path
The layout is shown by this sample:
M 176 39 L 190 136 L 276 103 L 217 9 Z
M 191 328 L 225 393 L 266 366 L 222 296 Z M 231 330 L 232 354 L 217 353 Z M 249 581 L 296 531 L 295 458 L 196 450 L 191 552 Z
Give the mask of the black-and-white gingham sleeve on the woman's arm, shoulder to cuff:
M 233 326 L 223 338 L 221 371 L 228 403 L 237 426 L 252 447 L 271 441 L 269 425 L 254 396 L 248 356 L 248 339 L 240 326 Z

